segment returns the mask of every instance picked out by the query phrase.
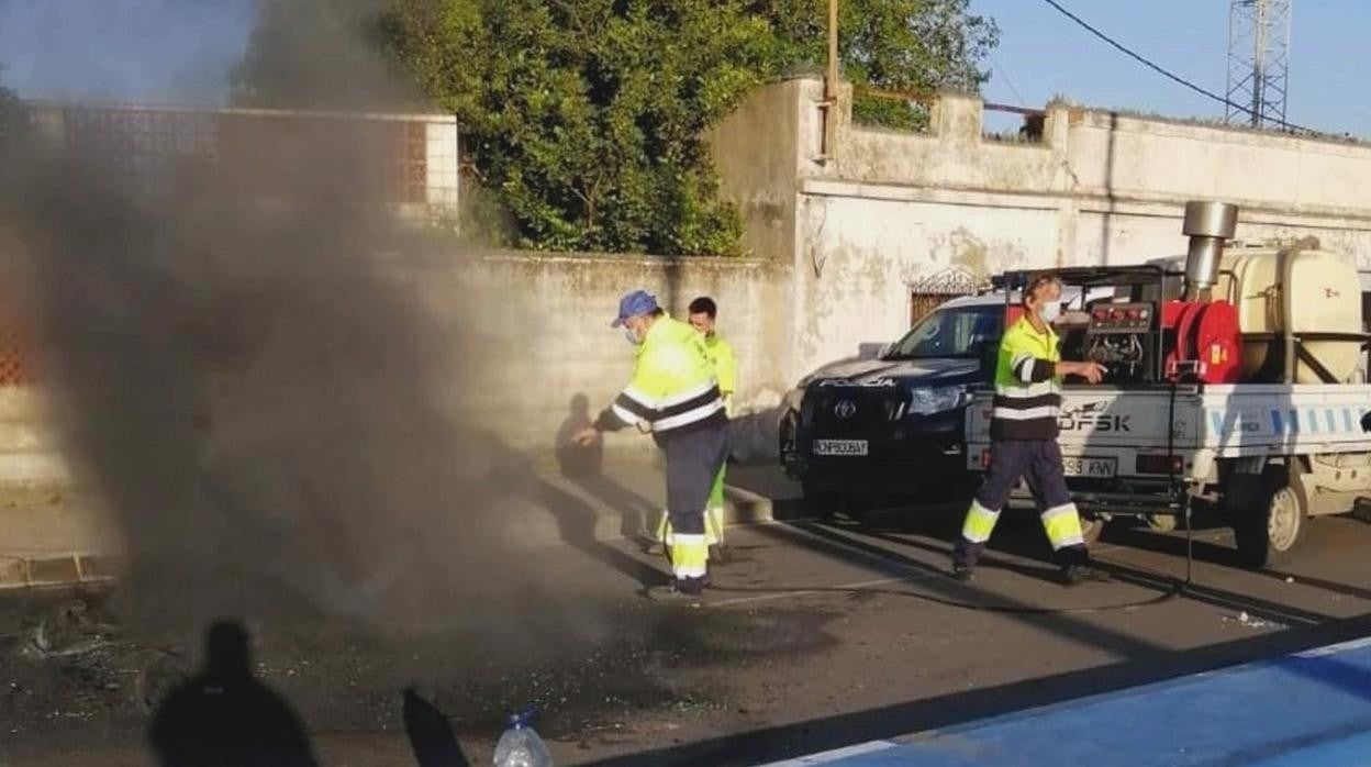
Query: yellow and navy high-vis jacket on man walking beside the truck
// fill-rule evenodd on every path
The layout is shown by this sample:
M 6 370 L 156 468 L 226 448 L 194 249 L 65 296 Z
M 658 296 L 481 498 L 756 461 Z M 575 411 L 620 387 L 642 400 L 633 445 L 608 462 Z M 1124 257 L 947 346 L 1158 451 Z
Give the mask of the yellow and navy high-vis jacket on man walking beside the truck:
M 1039 333 L 1023 317 L 999 342 L 991 439 L 1056 439 L 1061 414 L 1061 362 L 1057 333 Z

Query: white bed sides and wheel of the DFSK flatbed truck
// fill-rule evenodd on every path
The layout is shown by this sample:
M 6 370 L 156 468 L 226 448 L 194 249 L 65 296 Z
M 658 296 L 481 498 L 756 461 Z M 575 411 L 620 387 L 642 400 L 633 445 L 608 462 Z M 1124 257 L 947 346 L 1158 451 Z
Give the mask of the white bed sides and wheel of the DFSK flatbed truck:
M 1371 495 L 1368 384 L 1067 386 L 1058 445 L 1082 512 L 1167 526 L 1222 509 L 1243 564 L 1287 560 L 1308 519 Z M 968 410 L 968 456 L 990 449 L 990 394 Z

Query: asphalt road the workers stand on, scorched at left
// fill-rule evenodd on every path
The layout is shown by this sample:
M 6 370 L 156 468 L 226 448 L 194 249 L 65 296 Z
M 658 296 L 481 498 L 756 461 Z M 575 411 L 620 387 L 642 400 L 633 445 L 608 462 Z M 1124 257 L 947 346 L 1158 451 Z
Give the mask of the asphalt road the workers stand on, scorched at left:
M 281 600 L 243 627 L 318 762 L 358 766 L 485 764 L 529 704 L 558 764 L 758 764 L 1371 634 L 1371 526 L 1353 517 L 1316 520 L 1279 572 L 1238 569 L 1226 531 L 1197 530 L 1185 590 L 1185 534 L 1109 528 L 1113 582 L 1064 589 L 1031 517 L 957 583 L 958 523 L 740 528 L 701 606 L 644 593 L 661 561 L 632 542 L 580 541 L 537 552 L 548 589 L 498 630 L 441 604 L 400 630 Z M 4 600 L 0 766 L 148 763 L 206 627 L 143 620 L 118 589 Z M 203 726 L 247 726 L 215 711 Z

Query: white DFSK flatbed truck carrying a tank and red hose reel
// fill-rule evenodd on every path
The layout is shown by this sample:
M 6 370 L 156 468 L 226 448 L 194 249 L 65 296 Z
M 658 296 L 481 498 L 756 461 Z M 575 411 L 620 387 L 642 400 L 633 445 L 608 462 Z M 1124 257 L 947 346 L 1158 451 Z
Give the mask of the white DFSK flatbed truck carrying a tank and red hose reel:
M 1226 252 L 1237 213 L 1189 203 L 1185 258 L 1058 270 L 1075 296 L 1063 357 L 1109 369 L 1101 386 L 1065 383 L 1058 443 L 1084 516 L 1165 528 L 1204 502 L 1227 515 L 1241 561 L 1268 567 L 1311 517 L 1371 497 L 1371 336 L 1350 259 L 1302 244 Z M 997 279 L 1006 322 L 1030 279 Z M 967 410 L 973 471 L 988 465 L 991 397 Z

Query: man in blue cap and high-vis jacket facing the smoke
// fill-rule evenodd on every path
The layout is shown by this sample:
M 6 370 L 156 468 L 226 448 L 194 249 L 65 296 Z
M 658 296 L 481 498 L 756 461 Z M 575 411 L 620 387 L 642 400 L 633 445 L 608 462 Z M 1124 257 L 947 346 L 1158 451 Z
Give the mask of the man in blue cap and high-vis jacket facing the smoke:
M 705 506 L 728 453 L 728 416 L 714 365 L 695 328 L 668 317 L 646 291 L 620 300 L 613 327 L 638 346 L 633 379 L 576 442 L 592 445 L 602 432 L 628 427 L 653 435 L 666 454 L 675 591 L 699 595 L 709 582 Z

